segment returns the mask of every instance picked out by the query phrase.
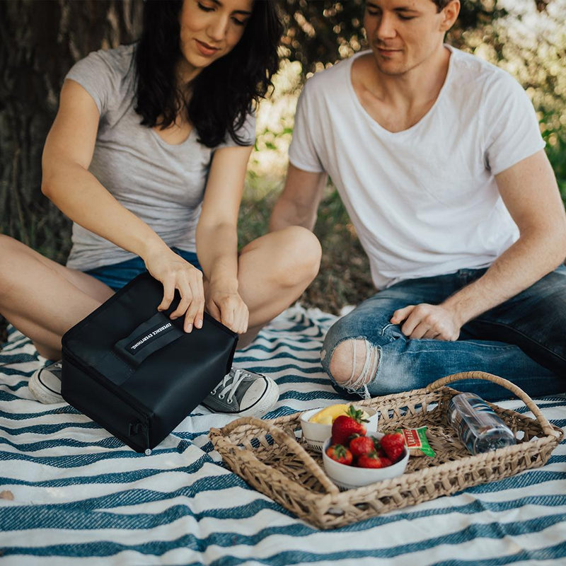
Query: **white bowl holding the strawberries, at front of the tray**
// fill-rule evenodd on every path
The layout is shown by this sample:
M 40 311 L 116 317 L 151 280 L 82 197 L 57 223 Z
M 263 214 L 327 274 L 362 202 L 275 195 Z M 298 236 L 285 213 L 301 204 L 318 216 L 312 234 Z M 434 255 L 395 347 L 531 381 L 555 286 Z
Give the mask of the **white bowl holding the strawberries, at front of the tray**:
M 368 437 L 381 439 L 383 434 L 381 432 L 368 432 Z M 370 485 L 371 483 L 380 482 L 381 480 L 388 480 L 395 478 L 405 472 L 407 462 L 409 461 L 409 451 L 405 446 L 405 454 L 397 462 L 387 468 L 357 468 L 357 466 L 346 466 L 334 461 L 326 455 L 326 449 L 330 446 L 331 438 L 326 439 L 323 445 L 323 464 L 326 475 L 333 480 L 333 482 L 345 490 L 352 490 L 356 487 L 363 485 Z

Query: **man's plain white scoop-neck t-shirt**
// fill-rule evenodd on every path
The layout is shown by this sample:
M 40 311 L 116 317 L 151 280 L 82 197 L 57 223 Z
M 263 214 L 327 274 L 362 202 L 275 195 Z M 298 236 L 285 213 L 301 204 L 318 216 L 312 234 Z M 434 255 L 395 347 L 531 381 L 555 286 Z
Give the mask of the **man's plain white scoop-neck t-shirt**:
M 519 236 L 494 175 L 545 145 L 512 76 L 446 47 L 436 102 L 403 132 L 359 102 L 351 71 L 363 53 L 313 76 L 299 98 L 289 161 L 330 175 L 378 289 L 490 265 Z

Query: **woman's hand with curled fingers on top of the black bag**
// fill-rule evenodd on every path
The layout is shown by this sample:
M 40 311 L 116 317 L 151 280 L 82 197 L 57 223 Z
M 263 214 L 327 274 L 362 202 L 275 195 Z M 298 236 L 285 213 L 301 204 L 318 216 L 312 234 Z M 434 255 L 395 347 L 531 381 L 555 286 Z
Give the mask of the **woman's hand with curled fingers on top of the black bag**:
M 145 258 L 146 268 L 152 277 L 163 285 L 163 301 L 158 311 L 166 311 L 178 289 L 181 299 L 177 308 L 171 313 L 171 320 L 185 315 L 183 330 L 190 332 L 192 328 L 202 328 L 204 318 L 204 288 L 202 272 L 194 265 L 183 260 L 169 248 L 161 248 Z

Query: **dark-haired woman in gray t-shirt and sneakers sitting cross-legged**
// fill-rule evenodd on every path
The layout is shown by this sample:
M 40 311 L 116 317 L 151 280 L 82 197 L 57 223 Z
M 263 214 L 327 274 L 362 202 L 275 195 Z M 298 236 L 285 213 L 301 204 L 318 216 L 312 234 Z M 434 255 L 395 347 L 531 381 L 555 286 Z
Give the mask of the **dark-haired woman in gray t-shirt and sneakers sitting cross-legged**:
M 0 236 L 0 312 L 43 357 L 60 359 L 62 335 L 145 269 L 163 284 L 159 310 L 180 292 L 171 318 L 186 332 L 206 308 L 241 345 L 316 275 L 320 246 L 299 227 L 237 250 L 251 109 L 277 70 L 274 4 L 146 1 L 137 45 L 69 71 L 42 158 L 42 192 L 74 221 L 67 266 Z M 59 378 L 53 364 L 30 390 L 59 402 Z M 233 370 L 204 404 L 248 415 L 277 397 L 272 380 Z

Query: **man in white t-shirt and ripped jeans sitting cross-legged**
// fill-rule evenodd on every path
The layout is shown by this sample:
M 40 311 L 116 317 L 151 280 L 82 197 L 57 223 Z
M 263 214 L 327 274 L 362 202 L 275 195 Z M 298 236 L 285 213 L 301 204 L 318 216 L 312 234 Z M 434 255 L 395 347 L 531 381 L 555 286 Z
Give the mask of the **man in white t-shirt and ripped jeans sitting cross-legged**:
M 338 391 L 471 370 L 531 395 L 566 389 L 564 207 L 523 89 L 444 45 L 459 9 L 367 0 L 371 51 L 313 76 L 299 100 L 270 227 L 312 229 L 330 175 L 380 289 L 325 338 Z

